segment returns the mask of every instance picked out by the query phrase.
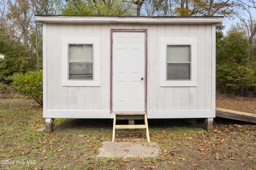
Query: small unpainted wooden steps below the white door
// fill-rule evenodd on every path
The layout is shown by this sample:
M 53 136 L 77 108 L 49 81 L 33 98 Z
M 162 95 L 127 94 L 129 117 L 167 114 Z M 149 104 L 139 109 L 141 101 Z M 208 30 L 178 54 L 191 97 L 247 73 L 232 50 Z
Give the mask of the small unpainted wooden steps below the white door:
M 117 119 L 143 119 L 144 125 L 116 125 Z M 145 112 L 115 112 L 113 121 L 113 137 L 112 142 L 115 141 L 116 129 L 146 129 L 146 138 L 150 142 L 149 130 L 148 130 L 148 118 Z

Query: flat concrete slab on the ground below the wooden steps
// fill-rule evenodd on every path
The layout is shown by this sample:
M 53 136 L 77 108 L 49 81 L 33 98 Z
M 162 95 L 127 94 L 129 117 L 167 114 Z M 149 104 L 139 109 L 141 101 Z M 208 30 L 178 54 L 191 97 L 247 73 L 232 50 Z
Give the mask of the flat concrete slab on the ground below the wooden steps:
M 97 157 L 159 157 L 161 149 L 158 143 L 148 142 L 102 142 Z

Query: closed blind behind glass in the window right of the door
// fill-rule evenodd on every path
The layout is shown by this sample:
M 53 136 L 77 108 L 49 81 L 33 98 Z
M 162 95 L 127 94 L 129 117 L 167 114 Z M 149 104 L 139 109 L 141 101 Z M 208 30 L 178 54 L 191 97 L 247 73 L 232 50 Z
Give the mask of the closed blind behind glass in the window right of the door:
M 167 80 L 190 80 L 190 45 L 167 45 Z

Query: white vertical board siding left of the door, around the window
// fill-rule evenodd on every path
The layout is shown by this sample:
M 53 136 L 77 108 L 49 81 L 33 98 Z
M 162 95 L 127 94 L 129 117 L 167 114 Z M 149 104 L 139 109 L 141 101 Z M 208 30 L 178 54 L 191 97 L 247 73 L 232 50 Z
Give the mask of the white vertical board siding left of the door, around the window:
M 109 110 L 110 106 L 110 35 L 108 25 L 92 24 L 47 24 L 47 110 Z M 100 32 L 103 31 L 103 37 Z M 61 37 L 60 37 L 61 35 Z M 61 38 L 62 37 L 100 37 L 101 72 L 100 87 L 68 87 L 61 85 Z M 104 39 L 102 41 L 102 38 Z M 54 64 L 53 64 L 54 63 Z

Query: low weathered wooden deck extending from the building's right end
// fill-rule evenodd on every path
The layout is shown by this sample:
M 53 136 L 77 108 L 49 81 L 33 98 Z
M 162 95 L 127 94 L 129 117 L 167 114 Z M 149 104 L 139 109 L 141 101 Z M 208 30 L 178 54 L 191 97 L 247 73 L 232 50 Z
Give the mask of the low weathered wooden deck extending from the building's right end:
M 216 107 L 216 117 L 256 123 L 256 114 Z

